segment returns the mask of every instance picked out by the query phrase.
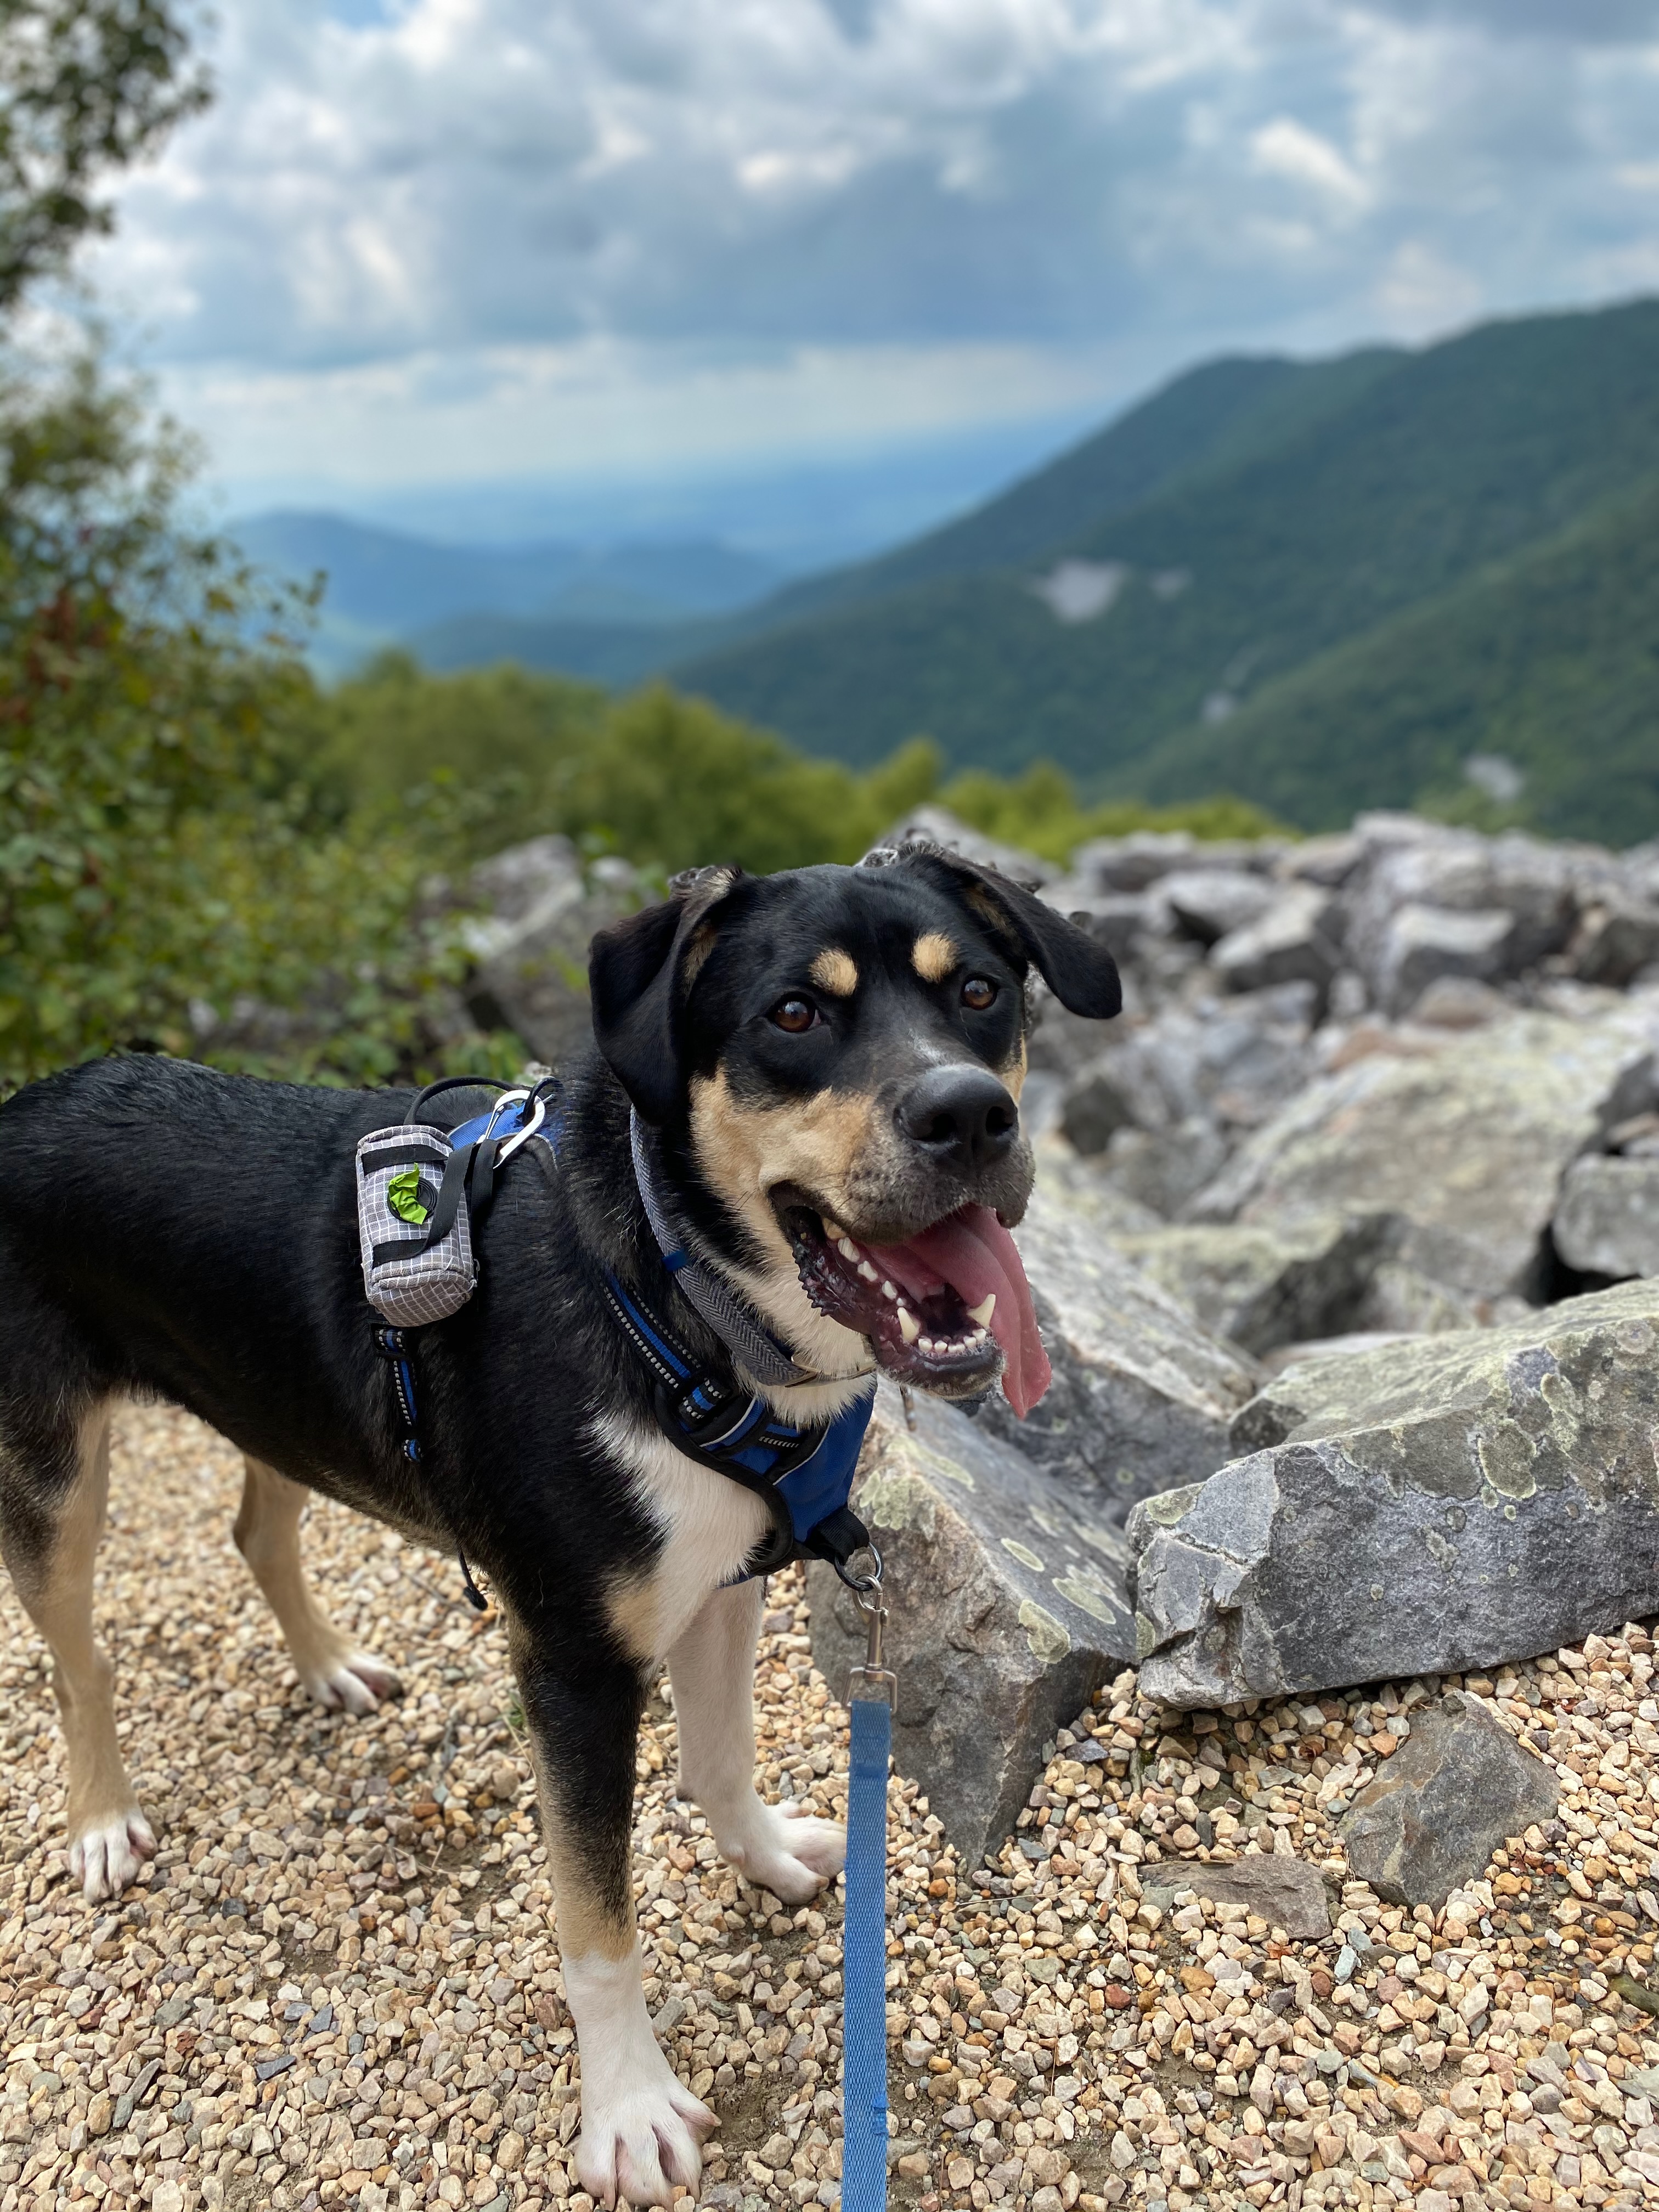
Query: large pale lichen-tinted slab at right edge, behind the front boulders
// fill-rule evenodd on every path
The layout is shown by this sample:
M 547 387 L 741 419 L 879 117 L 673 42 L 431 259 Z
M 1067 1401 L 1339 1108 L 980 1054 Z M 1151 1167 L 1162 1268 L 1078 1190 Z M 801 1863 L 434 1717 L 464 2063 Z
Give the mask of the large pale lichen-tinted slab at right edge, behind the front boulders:
M 1524 1013 L 1478 1046 L 1374 1053 L 1307 1084 L 1190 1206 L 1192 1221 L 1287 1228 L 1398 1212 L 1413 1263 L 1471 1298 L 1526 1294 L 1568 1164 L 1652 1095 L 1659 1009 Z

